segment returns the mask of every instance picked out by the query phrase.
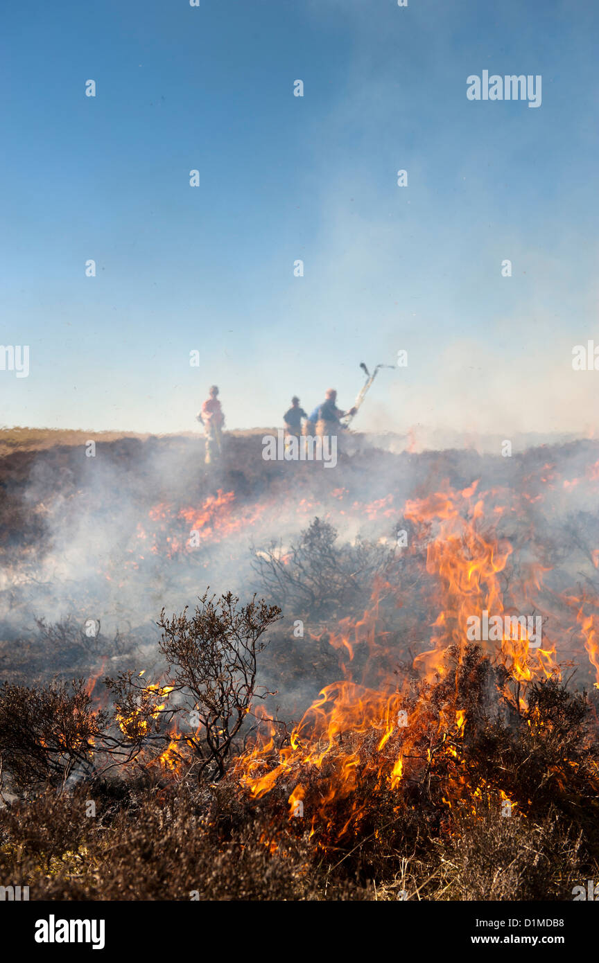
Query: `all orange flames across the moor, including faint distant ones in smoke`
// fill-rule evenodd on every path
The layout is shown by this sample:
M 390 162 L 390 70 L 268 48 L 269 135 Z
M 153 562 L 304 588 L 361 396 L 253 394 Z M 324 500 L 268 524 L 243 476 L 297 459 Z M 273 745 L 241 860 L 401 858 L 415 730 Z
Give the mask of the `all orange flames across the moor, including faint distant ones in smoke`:
M 568 491 L 576 480 L 560 480 L 552 466 L 541 470 L 549 488 Z M 596 487 L 597 464 L 586 472 L 586 483 Z M 346 491 L 336 489 L 335 499 L 345 506 Z M 277 744 L 276 727 L 269 717 L 254 709 L 259 721 L 253 744 L 237 758 L 229 778 L 233 779 L 252 800 L 282 791 L 287 798 L 289 819 L 309 814 L 311 834 L 320 827 L 320 838 L 327 844 L 338 842 L 349 827 L 359 828 L 364 801 L 352 804 L 352 796 L 360 781 L 370 778 L 373 794 L 393 793 L 398 805 L 411 783 L 430 778 L 435 768 L 449 772 L 446 786 L 450 792 L 442 803 L 451 809 L 464 800 L 476 807 L 482 798 L 509 802 L 502 786 L 501 770 L 493 783 L 478 779 L 472 782 L 464 751 L 464 734 L 468 716 L 459 704 L 457 685 L 446 687 L 442 705 L 432 705 L 436 683 L 451 681 L 468 652 L 469 625 L 474 614 L 490 612 L 494 617 L 494 634 L 479 644 L 491 663 L 505 669 L 502 696 L 515 708 L 526 705 L 526 688 L 531 682 L 550 677 L 560 678 L 557 643 L 560 638 L 578 639 L 584 644 L 590 664 L 599 681 L 598 615 L 594 604 L 574 590 L 560 592 L 547 577 L 552 566 L 538 560 L 520 560 L 507 580 L 507 566 L 514 546 L 498 529 L 511 515 L 522 512 L 522 505 L 542 499 L 523 494 L 508 500 L 506 490 L 481 492 L 474 481 L 461 490 L 450 487 L 429 496 L 406 502 L 401 511 L 393 506 L 393 497 L 377 500 L 369 506 L 353 503 L 354 510 L 369 518 L 393 518 L 411 526 L 409 545 L 397 550 L 403 560 L 419 564 L 419 553 L 426 547 L 422 578 L 425 594 L 433 600 L 436 617 L 430 622 L 426 649 L 412 659 L 411 671 L 395 672 L 402 641 L 393 639 L 388 612 L 410 602 L 402 578 L 375 579 L 371 604 L 361 618 L 343 618 L 328 642 L 340 655 L 344 678 L 326 685 L 309 709 L 294 726 L 283 745 Z M 350 506 L 347 506 L 351 510 Z M 221 491 L 208 499 L 202 508 L 182 509 L 178 517 L 195 528 L 202 537 L 221 538 L 243 526 L 253 524 L 266 507 L 236 513 L 231 492 Z M 299 509 L 302 510 L 301 507 Z M 346 511 L 346 508 L 341 508 Z M 171 509 L 157 507 L 150 513 L 161 519 Z M 596 564 L 599 550 L 593 550 Z M 422 567 L 422 565 L 421 565 Z M 514 580 L 514 571 L 519 578 Z M 385 615 L 381 615 L 384 609 Z M 533 639 L 526 619 L 518 612 L 534 612 L 543 624 L 542 643 Z M 513 616 L 513 619 L 505 619 Z M 508 625 L 497 629 L 497 625 Z M 510 627 L 510 628 L 509 628 Z M 320 638 L 322 633 L 310 633 Z M 399 651 L 394 644 L 399 641 Z M 392 644 L 393 642 L 393 644 Z M 355 678 L 353 663 L 358 649 L 365 648 L 368 657 L 362 664 L 360 679 Z M 568 663 L 570 664 L 570 663 Z M 414 682 L 414 675 L 418 683 Z M 596 685 L 597 683 L 595 683 Z M 149 687 L 161 691 L 159 687 Z M 163 692 L 165 690 L 162 690 Z M 449 695 L 447 693 L 450 693 Z M 157 707 L 157 715 L 163 706 Z M 534 724 L 534 723 L 530 723 Z M 434 727 L 434 739 L 430 737 Z M 186 736 L 173 733 L 168 750 L 160 757 L 160 765 L 176 772 L 185 760 Z M 333 815 L 340 803 L 349 803 L 344 824 L 335 826 Z M 369 805 L 373 804 L 371 796 Z M 515 803 L 514 803 L 515 805 Z M 331 833 L 333 838 L 331 839 Z

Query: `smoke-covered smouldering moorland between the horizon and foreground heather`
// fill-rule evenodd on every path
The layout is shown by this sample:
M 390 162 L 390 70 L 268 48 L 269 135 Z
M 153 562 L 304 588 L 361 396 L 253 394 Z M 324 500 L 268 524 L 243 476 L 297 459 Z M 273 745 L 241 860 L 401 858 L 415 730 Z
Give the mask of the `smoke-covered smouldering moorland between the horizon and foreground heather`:
M 597 587 L 597 442 L 502 457 L 457 449 L 414 454 L 398 451 L 396 436 L 373 443 L 352 434 L 340 444 L 334 470 L 323 472 L 309 462 L 265 462 L 261 437 L 228 435 L 221 464 L 209 467 L 201 441 L 177 437 L 100 441 L 93 457 L 83 445 L 57 445 L 2 458 L 4 674 L 27 681 L 74 670 L 93 675 L 107 661 L 108 668 L 158 670 L 155 623 L 163 606 L 168 612 L 193 606 L 206 586 L 241 598 L 273 594 L 273 583 L 265 582 L 269 554 L 285 558 L 319 518 L 335 529 L 336 547 L 361 539 L 377 558 L 368 562 L 362 553 L 368 578 L 360 586 L 355 573 L 346 573 L 352 578 L 346 611 L 339 599 L 325 600 L 318 612 L 302 608 L 293 592 L 278 589 L 269 599 L 284 616 L 273 635 L 273 664 L 276 653 L 284 653 L 293 671 L 281 679 L 267 657 L 261 674 L 299 712 L 305 699 L 348 669 L 347 652 L 331 648 L 329 634 L 344 615 L 357 618 L 368 608 L 377 566 L 392 561 L 401 584 L 405 504 L 476 480 L 498 537 L 513 545 L 511 582 L 524 580 L 534 566 L 542 569 L 542 588 L 539 583 L 528 605 L 533 612 L 534 603 L 541 604 L 544 636 L 561 633 L 564 659 L 584 652 L 571 607 L 557 599 L 566 590 L 592 595 Z M 545 608 L 543 592 L 551 596 Z M 390 667 L 428 644 L 436 613 L 421 594 L 410 595 L 405 586 L 404 605 L 393 612 Z M 86 635 L 90 619 L 99 622 L 97 638 Z M 49 633 L 53 626 L 60 628 Z M 333 677 L 319 674 L 325 671 Z

